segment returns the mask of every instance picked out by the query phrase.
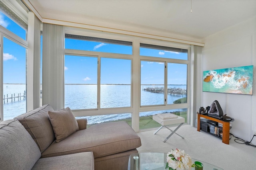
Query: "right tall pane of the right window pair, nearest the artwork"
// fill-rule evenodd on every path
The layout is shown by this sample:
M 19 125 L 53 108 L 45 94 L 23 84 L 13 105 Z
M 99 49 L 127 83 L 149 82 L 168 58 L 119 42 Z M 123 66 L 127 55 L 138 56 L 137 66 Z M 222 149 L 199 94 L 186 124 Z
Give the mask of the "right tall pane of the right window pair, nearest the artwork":
M 167 104 L 187 103 L 187 64 L 168 63 Z

